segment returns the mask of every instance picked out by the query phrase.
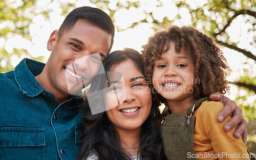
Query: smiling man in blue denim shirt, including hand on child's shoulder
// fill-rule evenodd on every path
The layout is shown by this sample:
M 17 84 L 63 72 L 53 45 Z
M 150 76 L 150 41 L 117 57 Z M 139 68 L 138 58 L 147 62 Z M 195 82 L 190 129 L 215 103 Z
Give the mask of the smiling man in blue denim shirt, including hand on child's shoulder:
M 46 64 L 25 58 L 14 71 L 0 74 L 0 159 L 76 158 L 81 124 L 78 106 L 82 103 L 76 85 L 90 84 L 113 39 L 114 25 L 106 13 L 77 8 L 59 31 L 52 32 L 47 43 L 52 52 Z M 234 108 L 233 102 L 224 101 L 229 106 L 224 110 L 229 111 L 220 113 L 223 118 Z M 241 121 L 241 109 L 235 110 L 226 124 L 229 128 Z M 242 122 L 237 129 L 240 134 L 246 128 Z

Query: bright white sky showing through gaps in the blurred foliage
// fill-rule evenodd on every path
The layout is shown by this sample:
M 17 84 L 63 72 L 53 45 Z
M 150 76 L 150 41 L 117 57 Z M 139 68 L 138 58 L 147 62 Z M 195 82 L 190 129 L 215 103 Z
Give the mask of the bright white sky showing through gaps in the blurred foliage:
M 50 52 L 47 50 L 47 41 L 50 37 L 50 34 L 54 30 L 58 30 L 60 27 L 62 21 L 64 20 L 64 16 L 61 15 L 62 10 L 60 8 L 60 2 L 61 3 L 75 3 L 75 7 L 81 7 L 81 6 L 91 6 L 91 7 L 97 7 L 95 4 L 91 4 L 89 1 L 84 0 L 38 0 L 36 2 L 36 5 L 34 6 L 36 8 L 35 13 L 39 13 L 41 10 L 44 10 L 45 8 L 51 10 L 49 13 L 50 19 L 45 19 L 42 15 L 37 15 L 33 17 L 33 23 L 29 26 L 29 33 L 32 37 L 32 41 L 26 40 L 25 38 L 17 35 L 13 35 L 10 33 L 8 35 L 9 39 L 5 42 L 3 38 L 0 38 L 0 47 L 5 47 L 6 51 L 8 53 L 11 53 L 13 51 L 13 48 L 16 49 L 26 49 L 32 56 L 38 57 L 38 56 L 45 56 L 44 61 L 46 62 L 47 59 L 50 56 Z M 117 0 L 111 0 L 109 7 L 113 10 L 116 9 Z M 122 3 L 124 6 L 127 5 L 126 0 L 119 0 L 120 3 Z M 137 2 L 137 0 L 130 0 L 130 2 Z M 189 14 L 188 10 L 185 8 L 178 8 L 173 3 L 174 1 L 170 0 L 162 0 L 161 2 L 155 1 L 155 0 L 144 0 L 140 1 L 140 8 L 134 8 L 131 7 L 129 10 L 126 9 L 120 9 L 115 13 L 115 26 L 118 26 L 119 28 L 123 29 L 122 32 L 115 33 L 115 39 L 114 39 L 114 45 L 112 48 L 112 51 L 115 50 L 121 50 L 123 48 L 133 48 L 137 51 L 141 51 L 141 46 L 146 43 L 147 38 L 150 37 L 154 30 L 152 29 L 152 24 L 146 24 L 146 23 L 140 23 L 137 27 L 133 29 L 127 29 L 131 26 L 133 22 L 139 21 L 140 19 L 145 18 L 145 12 L 153 12 L 153 16 L 155 19 L 161 20 L 166 16 L 168 19 L 173 20 L 175 16 L 179 13 L 181 15 L 180 20 L 174 21 L 174 25 L 182 26 L 182 25 L 191 25 L 191 15 Z M 23 2 L 21 0 L 9 0 L 7 1 L 8 5 L 11 7 L 17 8 L 23 5 Z M 187 1 L 189 3 L 191 8 L 196 8 L 197 6 L 202 6 L 205 3 L 207 3 L 206 0 L 202 1 Z M 237 7 L 239 7 L 238 4 Z M 157 7 L 160 6 L 160 7 Z M 106 11 L 108 13 L 108 11 Z M 30 17 L 31 15 L 29 12 L 22 13 L 24 16 Z M 207 11 L 205 11 L 205 14 L 207 14 Z M 147 20 L 150 22 L 152 21 L 152 18 L 147 17 Z M 216 20 L 220 23 L 222 22 L 222 19 L 219 19 L 216 17 Z M 5 26 L 10 26 L 11 28 L 14 28 L 14 25 L 20 25 L 20 24 L 13 24 L 12 21 L 4 21 L 0 24 L 0 28 L 3 28 Z M 238 47 L 248 49 L 250 51 L 255 50 L 249 43 L 248 39 L 251 41 L 253 38 L 253 34 L 248 34 L 247 29 L 251 27 L 246 24 L 246 22 L 243 21 L 242 16 L 238 16 L 231 24 L 230 27 L 228 27 L 227 32 L 229 33 L 230 40 L 233 42 L 239 42 Z M 200 26 L 199 26 L 200 29 Z M 234 32 L 236 31 L 236 32 Z M 238 32 L 239 31 L 239 32 Z M 231 33 L 231 34 L 230 34 Z M 32 42 L 32 43 L 31 43 Z M 249 60 L 242 55 L 241 53 L 238 53 L 236 51 L 222 48 L 222 51 L 227 58 L 228 64 L 230 68 L 232 69 L 233 73 L 230 74 L 228 77 L 228 80 L 233 81 L 236 80 L 237 77 L 239 77 L 242 64 L 247 62 L 251 63 L 251 66 L 253 66 L 253 74 L 256 74 L 256 65 L 253 61 Z M 12 56 L 12 65 L 16 66 L 21 59 L 23 59 L 25 55 L 22 57 L 18 57 L 17 55 Z M 5 65 L 5 62 L 3 61 L 1 65 Z M 243 65 L 243 67 L 246 67 Z M 251 68 L 249 68 L 251 70 Z M 254 75 L 256 76 L 256 75 Z M 234 87 L 232 87 L 233 89 Z M 233 92 L 233 90 L 232 90 Z M 230 97 L 232 98 L 232 96 Z M 255 98 L 254 98 L 255 99 Z

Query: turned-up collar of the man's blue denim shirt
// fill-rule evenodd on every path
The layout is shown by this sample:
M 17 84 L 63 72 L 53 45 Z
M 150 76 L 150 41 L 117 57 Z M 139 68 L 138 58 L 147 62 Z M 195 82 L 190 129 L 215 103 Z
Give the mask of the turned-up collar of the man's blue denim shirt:
M 35 79 L 45 67 L 41 63 L 32 59 L 24 58 L 14 69 L 14 76 L 20 91 L 28 97 L 35 97 L 43 91 L 43 88 Z M 47 91 L 48 92 L 48 91 Z

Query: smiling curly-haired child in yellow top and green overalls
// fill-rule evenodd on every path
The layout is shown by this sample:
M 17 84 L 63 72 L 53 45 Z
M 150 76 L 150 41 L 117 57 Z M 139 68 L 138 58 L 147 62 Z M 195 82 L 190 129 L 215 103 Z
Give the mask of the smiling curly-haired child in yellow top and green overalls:
M 222 129 L 230 117 L 217 121 L 223 104 L 206 98 L 228 89 L 226 59 L 212 39 L 193 27 L 172 26 L 143 49 L 145 75 L 171 112 L 161 126 L 167 158 L 250 159 L 241 137 L 232 135 L 235 128 Z

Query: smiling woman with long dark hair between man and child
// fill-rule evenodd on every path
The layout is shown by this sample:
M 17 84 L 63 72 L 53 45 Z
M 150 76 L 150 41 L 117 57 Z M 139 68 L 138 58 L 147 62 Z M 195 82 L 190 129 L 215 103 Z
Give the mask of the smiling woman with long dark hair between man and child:
M 115 51 L 103 65 L 110 73 L 108 81 L 96 79 L 89 92 L 106 88 L 104 97 L 94 100 L 103 102 L 94 106 L 112 109 L 92 115 L 88 106 L 83 107 L 78 159 L 165 159 L 157 125 L 160 104 L 152 103 L 140 53 L 133 49 Z M 122 77 L 113 76 L 115 73 Z

